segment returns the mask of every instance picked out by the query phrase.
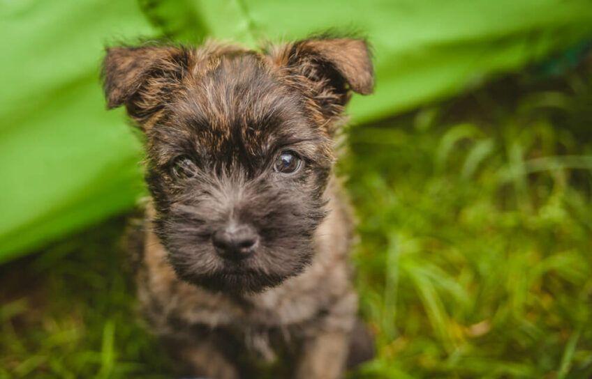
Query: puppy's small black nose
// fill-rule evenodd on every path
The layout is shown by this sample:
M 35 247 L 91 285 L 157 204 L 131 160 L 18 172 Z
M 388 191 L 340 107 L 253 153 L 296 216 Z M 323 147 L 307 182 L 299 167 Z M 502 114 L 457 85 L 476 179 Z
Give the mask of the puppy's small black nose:
M 249 225 L 227 226 L 212 235 L 216 251 L 224 258 L 239 260 L 255 251 L 259 237 Z

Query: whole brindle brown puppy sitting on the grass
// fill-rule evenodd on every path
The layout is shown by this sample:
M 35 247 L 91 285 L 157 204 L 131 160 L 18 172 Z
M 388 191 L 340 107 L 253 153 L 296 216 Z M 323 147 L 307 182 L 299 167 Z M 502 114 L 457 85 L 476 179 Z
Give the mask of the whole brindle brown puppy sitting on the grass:
M 372 92 L 367 43 L 112 47 L 103 82 L 108 107 L 145 135 L 138 292 L 179 366 L 256 378 L 282 355 L 295 378 L 343 376 L 369 344 L 351 337 L 353 223 L 334 137 L 351 93 Z

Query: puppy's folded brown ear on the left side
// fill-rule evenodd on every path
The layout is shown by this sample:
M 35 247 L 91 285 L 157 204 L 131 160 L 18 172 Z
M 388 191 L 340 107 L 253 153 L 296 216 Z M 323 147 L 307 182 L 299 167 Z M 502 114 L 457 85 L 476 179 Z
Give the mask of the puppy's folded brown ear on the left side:
M 109 109 L 125 105 L 147 130 L 186 75 L 191 52 L 184 47 L 110 47 L 103 61 L 103 88 Z

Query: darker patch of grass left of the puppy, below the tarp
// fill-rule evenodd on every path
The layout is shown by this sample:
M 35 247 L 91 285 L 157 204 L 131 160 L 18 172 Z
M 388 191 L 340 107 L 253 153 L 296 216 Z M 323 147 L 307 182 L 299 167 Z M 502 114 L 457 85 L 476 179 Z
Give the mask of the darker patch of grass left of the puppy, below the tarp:
M 113 219 L 1 268 L 0 378 L 165 378 L 135 313 L 124 226 Z

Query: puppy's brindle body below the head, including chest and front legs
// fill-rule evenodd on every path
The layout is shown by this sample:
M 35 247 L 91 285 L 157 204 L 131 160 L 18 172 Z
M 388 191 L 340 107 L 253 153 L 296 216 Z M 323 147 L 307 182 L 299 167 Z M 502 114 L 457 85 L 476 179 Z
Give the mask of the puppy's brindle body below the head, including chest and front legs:
M 337 185 L 330 185 L 327 192 L 332 211 L 316 233 L 316 256 L 310 267 L 279 286 L 244 295 L 214 293 L 179 280 L 167 261 L 165 247 L 150 231 L 154 210 L 149 206 L 138 272 L 140 303 L 154 330 L 168 339 L 172 349 L 181 348 L 177 354 L 199 360 L 189 352 L 199 348 L 200 341 L 207 341 L 204 349 L 209 352 L 204 359 L 208 367 L 198 374 L 232 378 L 241 369 L 232 362 L 237 354 L 271 361 L 278 350 L 287 347 L 293 355 L 304 352 L 309 356 L 299 377 L 339 377 L 356 320 L 357 296 L 348 265 L 349 213 Z M 323 353 L 325 346 L 320 351 L 303 346 L 314 345 L 319 338 L 336 347 Z

